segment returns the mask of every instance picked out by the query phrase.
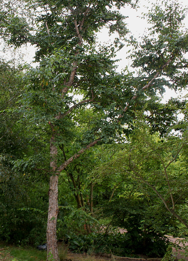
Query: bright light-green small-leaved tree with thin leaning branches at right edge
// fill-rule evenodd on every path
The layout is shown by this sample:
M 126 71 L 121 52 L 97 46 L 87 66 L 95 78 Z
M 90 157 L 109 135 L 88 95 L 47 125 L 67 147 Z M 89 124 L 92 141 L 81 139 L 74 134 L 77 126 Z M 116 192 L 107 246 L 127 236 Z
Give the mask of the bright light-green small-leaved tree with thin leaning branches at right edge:
M 167 211 L 188 228 L 186 154 L 187 131 L 183 137 L 168 135 L 160 139 L 149 134 L 142 122 L 130 142 L 97 171 L 102 175 L 121 173 L 122 180 L 132 177 L 142 184 L 146 195 L 153 190 Z

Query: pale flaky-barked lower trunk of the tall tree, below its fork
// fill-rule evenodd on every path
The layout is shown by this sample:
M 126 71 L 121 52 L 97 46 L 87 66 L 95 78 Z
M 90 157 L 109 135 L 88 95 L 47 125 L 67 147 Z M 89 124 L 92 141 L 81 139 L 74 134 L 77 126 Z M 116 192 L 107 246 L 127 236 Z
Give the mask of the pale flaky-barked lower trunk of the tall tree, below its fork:
M 49 208 L 47 225 L 47 261 L 59 261 L 57 249 L 56 224 L 58 214 L 58 176 L 50 177 Z

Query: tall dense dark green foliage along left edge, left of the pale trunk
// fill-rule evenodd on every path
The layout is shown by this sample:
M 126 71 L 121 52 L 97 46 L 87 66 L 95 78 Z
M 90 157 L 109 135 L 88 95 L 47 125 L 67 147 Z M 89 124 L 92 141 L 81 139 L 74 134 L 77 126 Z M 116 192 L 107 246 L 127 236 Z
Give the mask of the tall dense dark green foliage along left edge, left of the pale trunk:
M 19 95 L 23 92 L 16 77 L 19 70 L 4 61 L 0 70 L 0 239 L 18 245 L 39 244 L 45 240 L 45 217 L 38 213 L 26 215 L 19 209 L 35 207 L 46 211 L 46 183 L 42 183 L 41 189 L 41 180 L 34 170 L 39 167 L 36 154 L 41 143 L 32 137 L 34 133 L 27 132 L 25 124 L 18 122 L 23 115 L 12 110 L 18 108 Z M 31 158 L 35 158 L 35 162 L 31 162 Z M 42 171 L 40 173 L 44 177 Z

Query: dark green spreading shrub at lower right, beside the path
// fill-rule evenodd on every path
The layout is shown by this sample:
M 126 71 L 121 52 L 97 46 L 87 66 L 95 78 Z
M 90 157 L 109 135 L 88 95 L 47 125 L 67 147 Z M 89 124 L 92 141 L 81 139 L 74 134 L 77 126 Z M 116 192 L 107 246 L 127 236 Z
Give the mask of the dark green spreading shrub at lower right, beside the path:
M 157 206 L 155 198 L 144 196 L 135 184 L 135 191 L 129 198 L 129 189 L 124 187 L 124 196 L 114 197 L 104 204 L 103 213 L 109 218 L 109 224 L 126 230 L 129 238 L 127 245 L 136 253 L 149 256 L 163 256 L 167 244 L 165 234 L 178 229 L 162 206 Z

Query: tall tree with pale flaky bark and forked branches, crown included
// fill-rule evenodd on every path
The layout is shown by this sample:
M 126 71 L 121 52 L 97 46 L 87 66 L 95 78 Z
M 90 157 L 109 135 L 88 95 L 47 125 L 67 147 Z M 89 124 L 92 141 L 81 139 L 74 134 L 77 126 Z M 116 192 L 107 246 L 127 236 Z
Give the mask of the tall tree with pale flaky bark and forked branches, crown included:
M 110 34 L 116 31 L 124 39 L 127 30 L 118 9 L 126 3 L 131 1 L 26 2 L 29 15 L 36 13 L 30 19 L 35 24 L 34 34 L 27 13 L 23 17 L 21 9 L 14 12 L 15 5 L 3 3 L 3 38 L 16 46 L 29 42 L 38 48 L 35 59 L 40 64 L 28 68 L 22 77 L 25 93 L 20 106 L 28 126 L 38 128 L 50 139 L 48 260 L 52 256 L 59 260 L 56 222 L 60 173 L 96 144 L 120 138 L 123 131 L 133 127 L 135 107 L 142 108 L 145 100 L 156 96 L 157 91 L 162 93 L 165 85 L 174 87 L 159 76 L 175 77 L 180 86 L 179 68 L 186 66 L 182 55 L 187 50 L 187 34 L 180 32 L 183 11 L 177 9 L 178 5 L 175 9 L 166 6 L 168 15 L 160 8 L 150 14 L 154 23 L 151 34 L 157 32 L 156 39 L 145 38 L 142 46 L 130 41 L 139 48 L 134 53 L 134 65 L 143 67 L 143 74 L 133 77 L 129 72 L 115 72 L 114 57 L 121 44 L 116 40 L 114 45 L 100 46 L 95 33 L 108 26 Z M 162 14 L 167 18 L 162 19 Z M 82 98 L 77 100 L 75 95 Z M 86 119 L 83 111 L 88 112 Z

